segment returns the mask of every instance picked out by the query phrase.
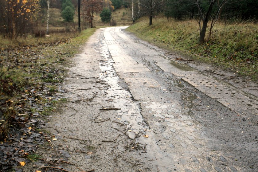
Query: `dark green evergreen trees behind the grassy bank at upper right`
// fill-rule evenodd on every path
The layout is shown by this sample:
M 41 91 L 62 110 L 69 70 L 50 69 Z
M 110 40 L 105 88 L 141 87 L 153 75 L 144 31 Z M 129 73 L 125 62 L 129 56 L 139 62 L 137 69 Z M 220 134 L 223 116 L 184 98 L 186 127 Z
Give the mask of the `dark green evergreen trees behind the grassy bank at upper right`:
M 193 18 L 199 15 L 197 3 L 201 11 L 207 11 L 211 0 L 166 0 L 164 14 L 166 17 L 173 17 L 181 20 Z M 257 0 L 216 0 L 213 13 L 220 9 L 218 17 L 220 19 L 257 19 L 258 1 Z M 225 5 L 221 6 L 221 4 Z

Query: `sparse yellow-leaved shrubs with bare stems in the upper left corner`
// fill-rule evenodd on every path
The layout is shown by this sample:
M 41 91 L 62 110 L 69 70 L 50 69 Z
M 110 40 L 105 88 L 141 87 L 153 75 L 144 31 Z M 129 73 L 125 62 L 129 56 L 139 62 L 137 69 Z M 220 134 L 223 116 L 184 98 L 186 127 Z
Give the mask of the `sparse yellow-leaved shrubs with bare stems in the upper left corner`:
M 39 0 L 0 0 L 0 32 L 15 40 L 28 33 L 39 11 Z

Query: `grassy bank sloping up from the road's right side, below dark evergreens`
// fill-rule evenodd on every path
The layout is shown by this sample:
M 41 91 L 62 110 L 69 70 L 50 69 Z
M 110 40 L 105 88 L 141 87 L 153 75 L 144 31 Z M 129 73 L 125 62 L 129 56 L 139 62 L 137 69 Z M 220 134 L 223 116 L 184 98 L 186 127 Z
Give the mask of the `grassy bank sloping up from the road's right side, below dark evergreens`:
M 199 29 L 195 20 L 175 21 L 157 17 L 152 26 L 141 18 L 128 31 L 139 38 L 191 58 L 233 69 L 258 81 L 258 25 L 255 23 L 217 23 L 209 41 L 198 45 Z M 207 35 L 209 34 L 207 29 Z

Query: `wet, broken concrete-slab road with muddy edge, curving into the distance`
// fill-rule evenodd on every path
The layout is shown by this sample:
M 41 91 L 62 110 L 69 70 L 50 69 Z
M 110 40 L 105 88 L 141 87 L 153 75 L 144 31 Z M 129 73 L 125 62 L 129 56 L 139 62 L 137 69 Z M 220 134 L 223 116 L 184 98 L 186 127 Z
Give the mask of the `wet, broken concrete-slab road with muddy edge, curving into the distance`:
M 77 164 L 68 171 L 257 171 L 257 95 L 125 28 L 99 29 L 72 59 L 68 103 L 46 127 L 55 151 L 42 157 Z

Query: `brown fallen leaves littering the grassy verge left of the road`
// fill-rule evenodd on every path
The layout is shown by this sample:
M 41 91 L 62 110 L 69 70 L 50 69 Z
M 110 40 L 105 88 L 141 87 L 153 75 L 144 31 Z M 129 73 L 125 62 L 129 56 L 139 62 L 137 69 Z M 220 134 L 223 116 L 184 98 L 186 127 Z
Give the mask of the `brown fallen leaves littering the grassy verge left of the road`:
M 45 120 L 64 92 L 58 65 L 65 54 L 53 47 L 0 49 L 0 171 L 20 171 L 15 166 L 25 166 L 45 142 Z

